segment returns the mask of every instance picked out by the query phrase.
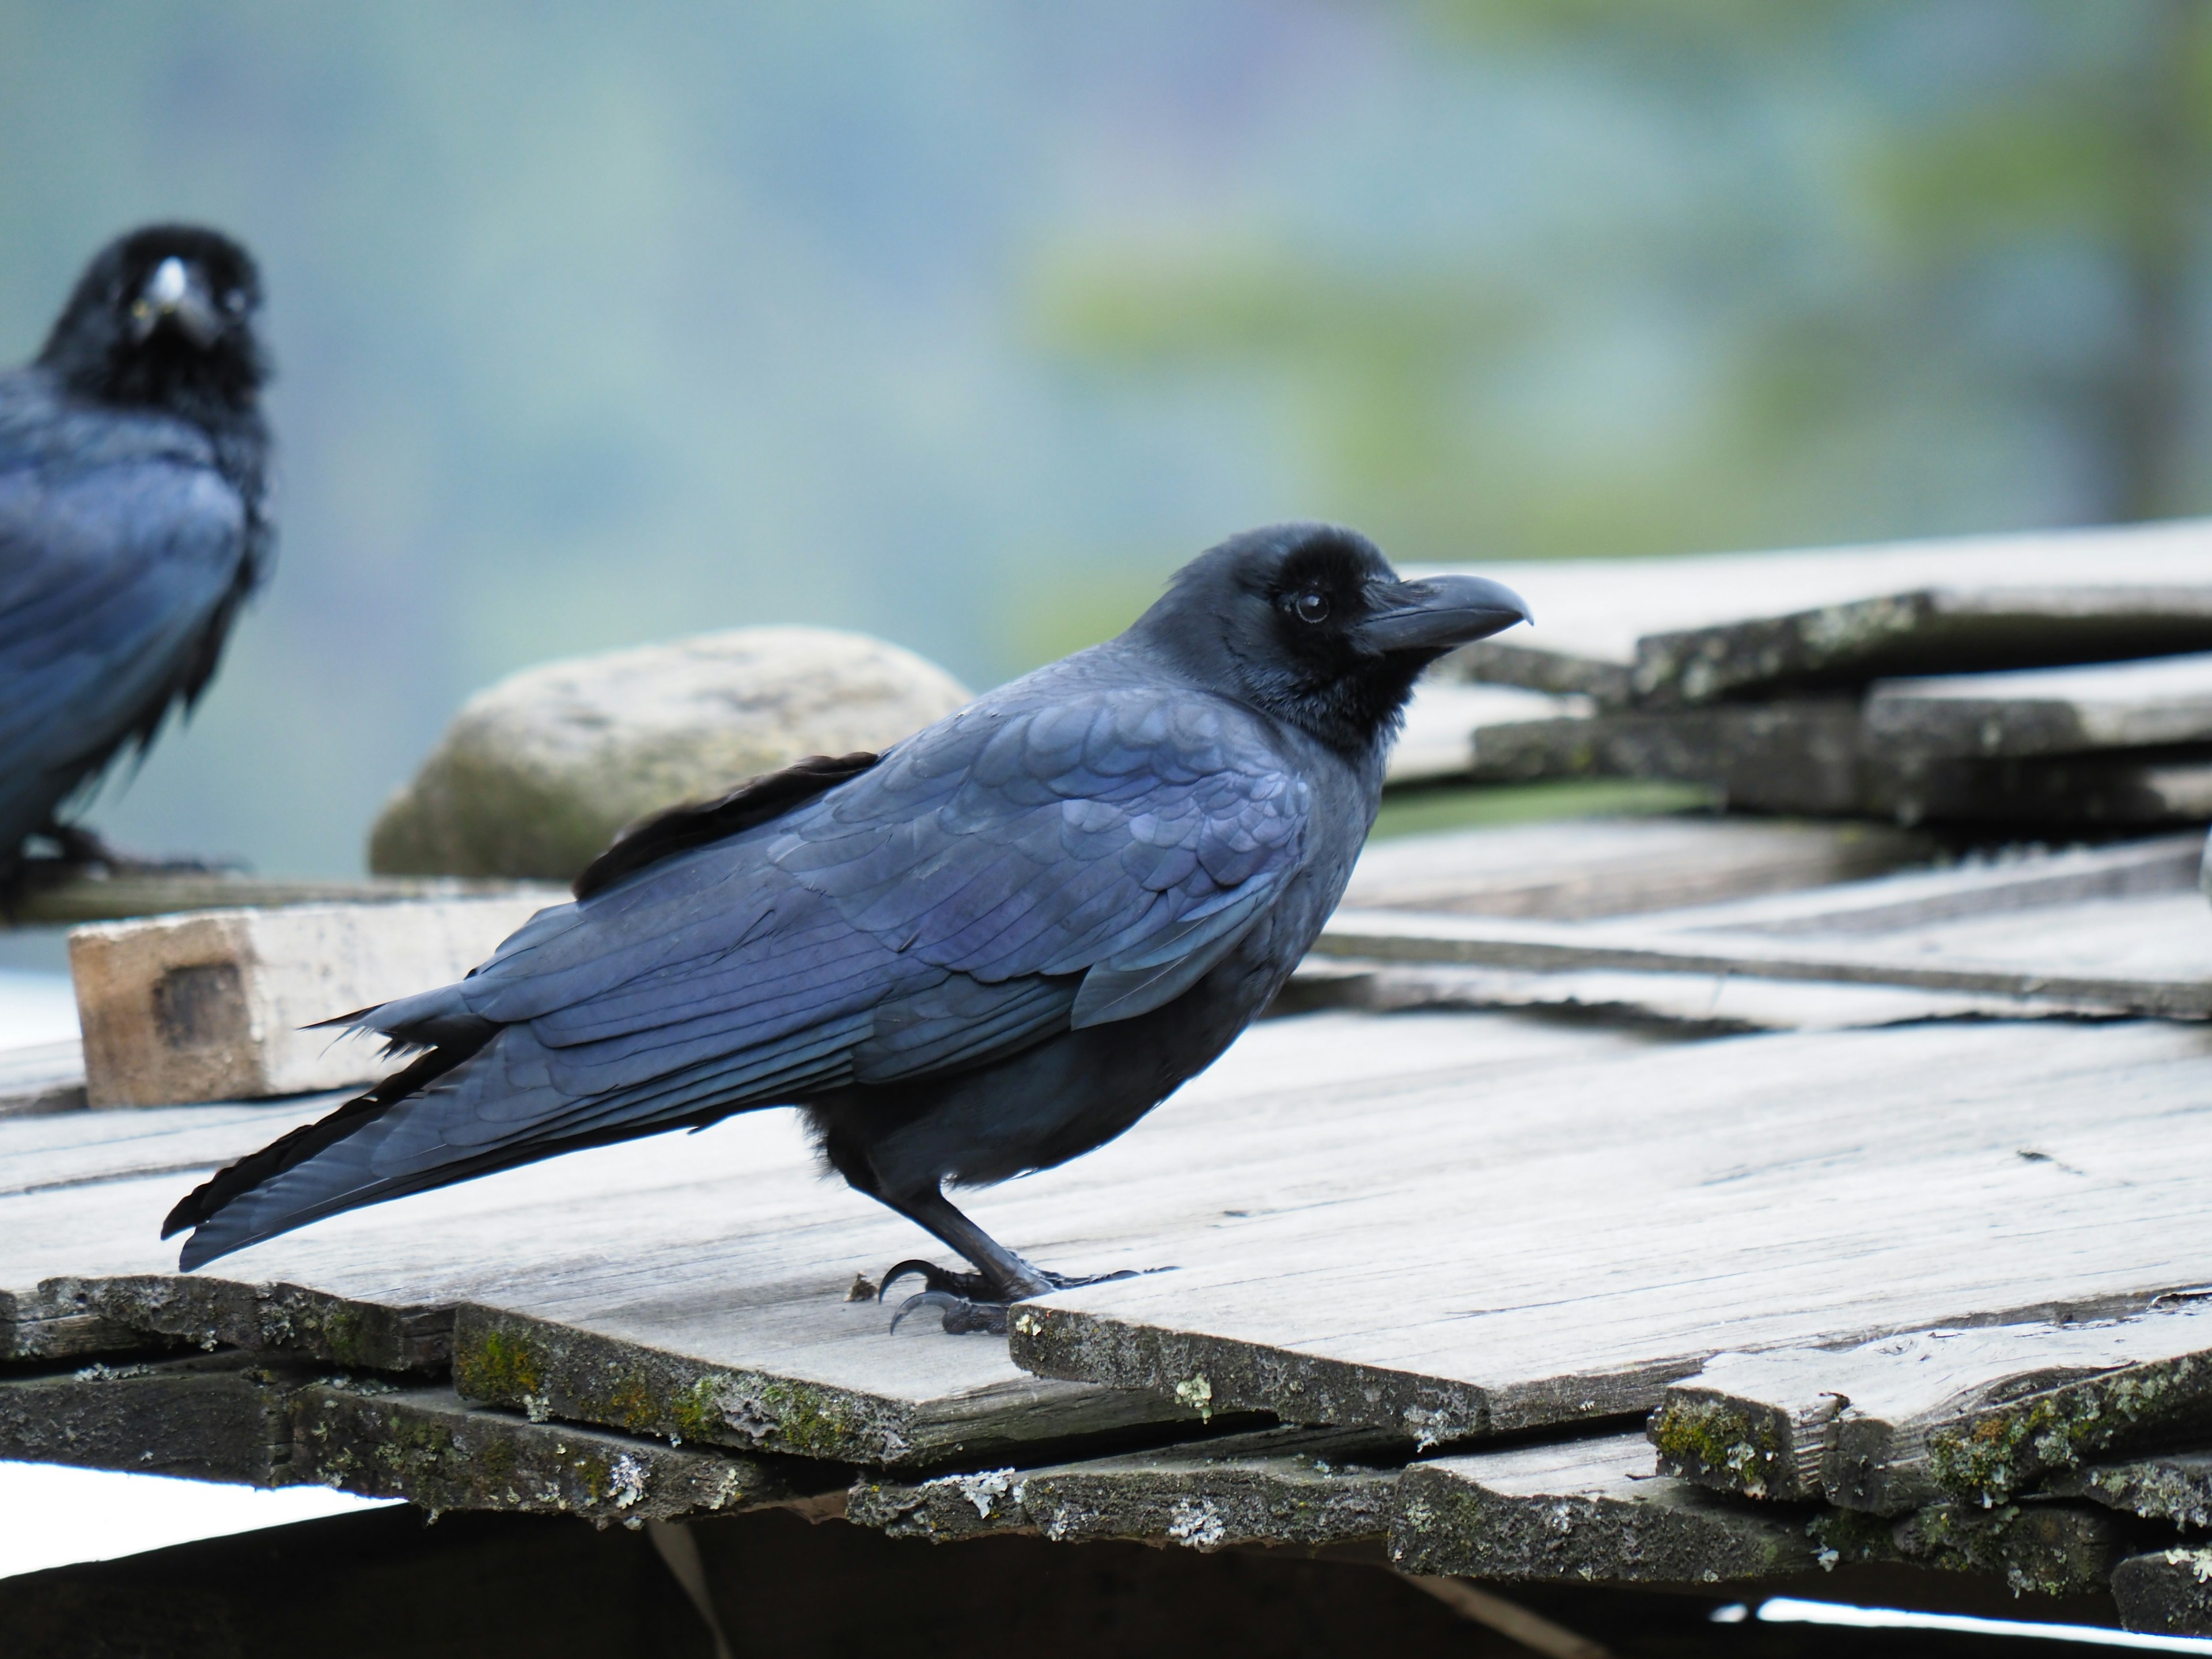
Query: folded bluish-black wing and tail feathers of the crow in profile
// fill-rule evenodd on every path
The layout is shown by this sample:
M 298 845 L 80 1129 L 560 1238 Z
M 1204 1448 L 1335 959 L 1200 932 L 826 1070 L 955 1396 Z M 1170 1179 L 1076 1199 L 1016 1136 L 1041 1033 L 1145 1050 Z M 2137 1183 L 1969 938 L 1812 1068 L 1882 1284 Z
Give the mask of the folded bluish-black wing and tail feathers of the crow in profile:
M 573 1146 L 1144 1013 L 1294 874 L 1305 812 L 1230 703 L 984 699 L 785 818 L 540 911 L 460 984 L 369 1011 L 363 1029 L 476 1051 L 232 1199 L 186 1265 Z M 201 1219 L 190 1203 L 179 1225 Z

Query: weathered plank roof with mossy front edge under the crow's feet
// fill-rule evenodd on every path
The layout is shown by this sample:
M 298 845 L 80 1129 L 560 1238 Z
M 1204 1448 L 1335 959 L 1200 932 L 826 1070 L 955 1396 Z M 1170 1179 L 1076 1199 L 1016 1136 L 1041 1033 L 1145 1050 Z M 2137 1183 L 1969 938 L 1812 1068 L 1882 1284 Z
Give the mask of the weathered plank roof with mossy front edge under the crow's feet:
M 168 1203 L 338 1095 L 7 1117 L 0 1455 L 1714 1599 L 1973 1575 L 2208 1630 L 2194 841 L 1940 854 L 1710 818 L 1378 847 L 1307 1013 L 978 1194 L 1048 1265 L 1139 1270 L 1006 1338 L 889 1329 L 869 1290 L 929 1245 L 783 1113 L 190 1276 Z

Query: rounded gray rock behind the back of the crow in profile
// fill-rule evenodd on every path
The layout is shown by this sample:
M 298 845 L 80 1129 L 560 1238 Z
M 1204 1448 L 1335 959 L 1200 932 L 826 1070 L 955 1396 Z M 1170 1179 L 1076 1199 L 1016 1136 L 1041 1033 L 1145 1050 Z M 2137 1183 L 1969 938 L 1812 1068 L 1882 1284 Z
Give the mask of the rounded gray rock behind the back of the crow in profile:
M 378 814 L 369 869 L 568 880 L 648 812 L 803 754 L 880 750 L 964 701 L 911 650 L 830 628 L 540 664 L 462 703 Z

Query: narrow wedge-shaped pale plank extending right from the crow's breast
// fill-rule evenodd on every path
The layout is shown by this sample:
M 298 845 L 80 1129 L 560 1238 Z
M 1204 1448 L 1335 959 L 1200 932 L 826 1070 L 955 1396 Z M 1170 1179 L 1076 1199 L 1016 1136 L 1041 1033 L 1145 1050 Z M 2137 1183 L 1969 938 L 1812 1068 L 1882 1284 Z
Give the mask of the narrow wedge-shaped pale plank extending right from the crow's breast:
M 1887 984 L 2201 1020 L 2212 1015 L 2212 918 L 2194 887 L 2199 858 L 2194 836 L 2168 836 L 1597 922 L 1340 909 L 1314 949 L 1360 962 Z

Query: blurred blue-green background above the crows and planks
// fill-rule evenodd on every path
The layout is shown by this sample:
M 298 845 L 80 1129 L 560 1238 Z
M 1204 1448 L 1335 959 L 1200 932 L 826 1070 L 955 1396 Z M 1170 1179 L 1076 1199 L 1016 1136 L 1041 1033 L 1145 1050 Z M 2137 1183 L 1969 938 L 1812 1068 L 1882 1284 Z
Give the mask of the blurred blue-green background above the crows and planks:
M 361 869 L 529 661 L 982 686 L 1208 542 L 1402 562 L 2205 511 L 2203 0 L 0 0 L 0 361 L 259 252 L 283 549 L 124 845 Z

